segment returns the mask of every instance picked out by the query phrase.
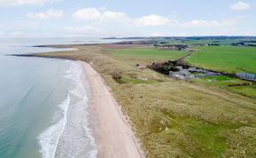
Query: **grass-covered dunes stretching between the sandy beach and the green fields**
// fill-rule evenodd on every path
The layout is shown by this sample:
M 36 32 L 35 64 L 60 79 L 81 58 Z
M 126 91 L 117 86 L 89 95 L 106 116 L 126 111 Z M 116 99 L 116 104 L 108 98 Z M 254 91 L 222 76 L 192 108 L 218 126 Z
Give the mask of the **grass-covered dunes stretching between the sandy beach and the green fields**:
M 255 99 L 133 67 L 123 58 L 129 52 L 119 54 L 124 50 L 111 54 L 100 45 L 74 47 L 78 51 L 36 56 L 90 63 L 129 117 L 147 157 L 256 156 Z M 142 55 L 141 62 L 151 55 Z

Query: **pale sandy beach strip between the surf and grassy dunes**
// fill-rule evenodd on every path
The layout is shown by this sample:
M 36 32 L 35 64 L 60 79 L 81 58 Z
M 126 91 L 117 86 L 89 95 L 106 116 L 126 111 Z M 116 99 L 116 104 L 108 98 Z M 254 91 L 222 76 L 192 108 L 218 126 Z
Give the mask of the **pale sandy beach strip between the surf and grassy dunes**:
M 145 157 L 132 132 L 130 124 L 108 91 L 101 76 L 90 64 L 77 61 L 84 68 L 90 84 L 89 104 L 93 115 L 92 130 L 96 139 L 99 158 Z

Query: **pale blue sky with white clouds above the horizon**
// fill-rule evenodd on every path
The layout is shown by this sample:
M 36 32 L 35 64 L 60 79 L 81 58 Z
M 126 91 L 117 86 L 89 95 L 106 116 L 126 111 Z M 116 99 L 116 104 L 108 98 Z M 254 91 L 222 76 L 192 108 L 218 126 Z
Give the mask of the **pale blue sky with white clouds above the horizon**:
M 0 36 L 256 36 L 256 1 L 0 0 Z

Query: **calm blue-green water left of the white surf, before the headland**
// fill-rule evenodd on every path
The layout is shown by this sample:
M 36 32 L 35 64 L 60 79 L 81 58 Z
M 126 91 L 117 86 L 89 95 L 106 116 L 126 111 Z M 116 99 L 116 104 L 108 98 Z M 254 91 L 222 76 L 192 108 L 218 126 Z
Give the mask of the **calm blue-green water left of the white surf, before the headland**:
M 0 157 L 41 157 L 36 138 L 66 99 L 68 63 L 6 57 L 0 63 Z

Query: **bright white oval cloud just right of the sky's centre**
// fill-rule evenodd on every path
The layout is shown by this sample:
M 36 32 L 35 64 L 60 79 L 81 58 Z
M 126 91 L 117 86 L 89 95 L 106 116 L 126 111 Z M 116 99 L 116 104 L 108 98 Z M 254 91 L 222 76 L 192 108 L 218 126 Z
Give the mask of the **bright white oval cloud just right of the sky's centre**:
M 148 15 L 134 20 L 134 25 L 137 27 L 157 27 L 164 26 L 171 22 L 168 18 L 159 15 Z

